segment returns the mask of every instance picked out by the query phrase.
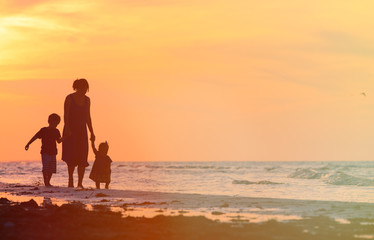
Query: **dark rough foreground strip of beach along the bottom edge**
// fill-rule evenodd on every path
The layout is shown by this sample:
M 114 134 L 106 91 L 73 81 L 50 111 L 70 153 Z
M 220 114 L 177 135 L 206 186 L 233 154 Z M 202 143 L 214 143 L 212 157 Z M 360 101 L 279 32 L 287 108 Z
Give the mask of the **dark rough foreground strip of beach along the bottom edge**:
M 374 220 L 338 223 L 323 216 L 263 223 L 220 223 L 183 215 L 124 217 L 105 207 L 89 211 L 78 202 L 38 206 L 34 200 L 0 199 L 3 239 L 373 239 L 372 224 Z

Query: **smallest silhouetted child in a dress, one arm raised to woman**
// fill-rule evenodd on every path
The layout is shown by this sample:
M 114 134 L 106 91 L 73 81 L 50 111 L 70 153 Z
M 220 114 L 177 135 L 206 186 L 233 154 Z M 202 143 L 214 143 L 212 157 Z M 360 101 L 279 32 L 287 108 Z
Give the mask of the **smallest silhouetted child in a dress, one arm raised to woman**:
M 92 150 L 95 153 L 95 162 L 92 166 L 90 179 L 96 183 L 96 188 L 100 189 L 100 183 L 105 183 L 105 188 L 109 189 L 110 164 L 112 159 L 108 156 L 109 145 L 107 142 L 100 143 L 99 151 L 95 148 L 95 141 L 92 142 Z

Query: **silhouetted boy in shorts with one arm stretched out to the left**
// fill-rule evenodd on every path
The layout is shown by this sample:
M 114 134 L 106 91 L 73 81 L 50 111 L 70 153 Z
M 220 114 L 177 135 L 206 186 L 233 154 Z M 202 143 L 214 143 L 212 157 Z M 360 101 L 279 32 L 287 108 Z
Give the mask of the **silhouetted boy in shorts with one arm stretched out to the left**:
M 60 123 L 61 118 L 56 113 L 52 113 L 48 117 L 48 127 L 43 127 L 31 138 L 31 140 L 26 144 L 26 151 L 29 150 L 30 144 L 36 139 L 42 139 L 42 150 L 40 151 L 42 155 L 43 164 L 43 179 L 44 185 L 46 187 L 51 187 L 52 174 L 56 173 L 56 155 L 57 146 L 56 142 L 61 143 L 62 138 L 60 131 L 57 129 L 57 125 Z

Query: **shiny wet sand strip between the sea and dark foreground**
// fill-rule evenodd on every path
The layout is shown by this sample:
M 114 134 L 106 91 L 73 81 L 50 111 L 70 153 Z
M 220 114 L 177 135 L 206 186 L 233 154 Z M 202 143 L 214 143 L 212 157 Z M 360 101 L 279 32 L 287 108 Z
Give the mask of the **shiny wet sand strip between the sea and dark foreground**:
M 20 202 L 34 199 L 39 205 L 80 202 L 93 209 L 106 206 L 125 216 L 203 216 L 220 222 L 234 218 L 259 223 L 324 216 L 340 222 L 374 219 L 374 203 L 234 197 L 116 189 L 75 189 L 0 183 L 0 195 Z

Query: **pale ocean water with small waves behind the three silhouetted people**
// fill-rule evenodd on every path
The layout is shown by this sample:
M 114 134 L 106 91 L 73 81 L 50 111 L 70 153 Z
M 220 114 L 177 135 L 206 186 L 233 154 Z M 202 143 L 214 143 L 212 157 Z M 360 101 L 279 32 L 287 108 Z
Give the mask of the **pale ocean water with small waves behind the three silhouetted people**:
M 83 185 L 94 188 L 91 167 Z M 51 183 L 66 186 L 67 179 L 58 161 Z M 0 182 L 42 185 L 41 162 L 1 162 Z M 113 162 L 110 188 L 374 203 L 374 162 Z

